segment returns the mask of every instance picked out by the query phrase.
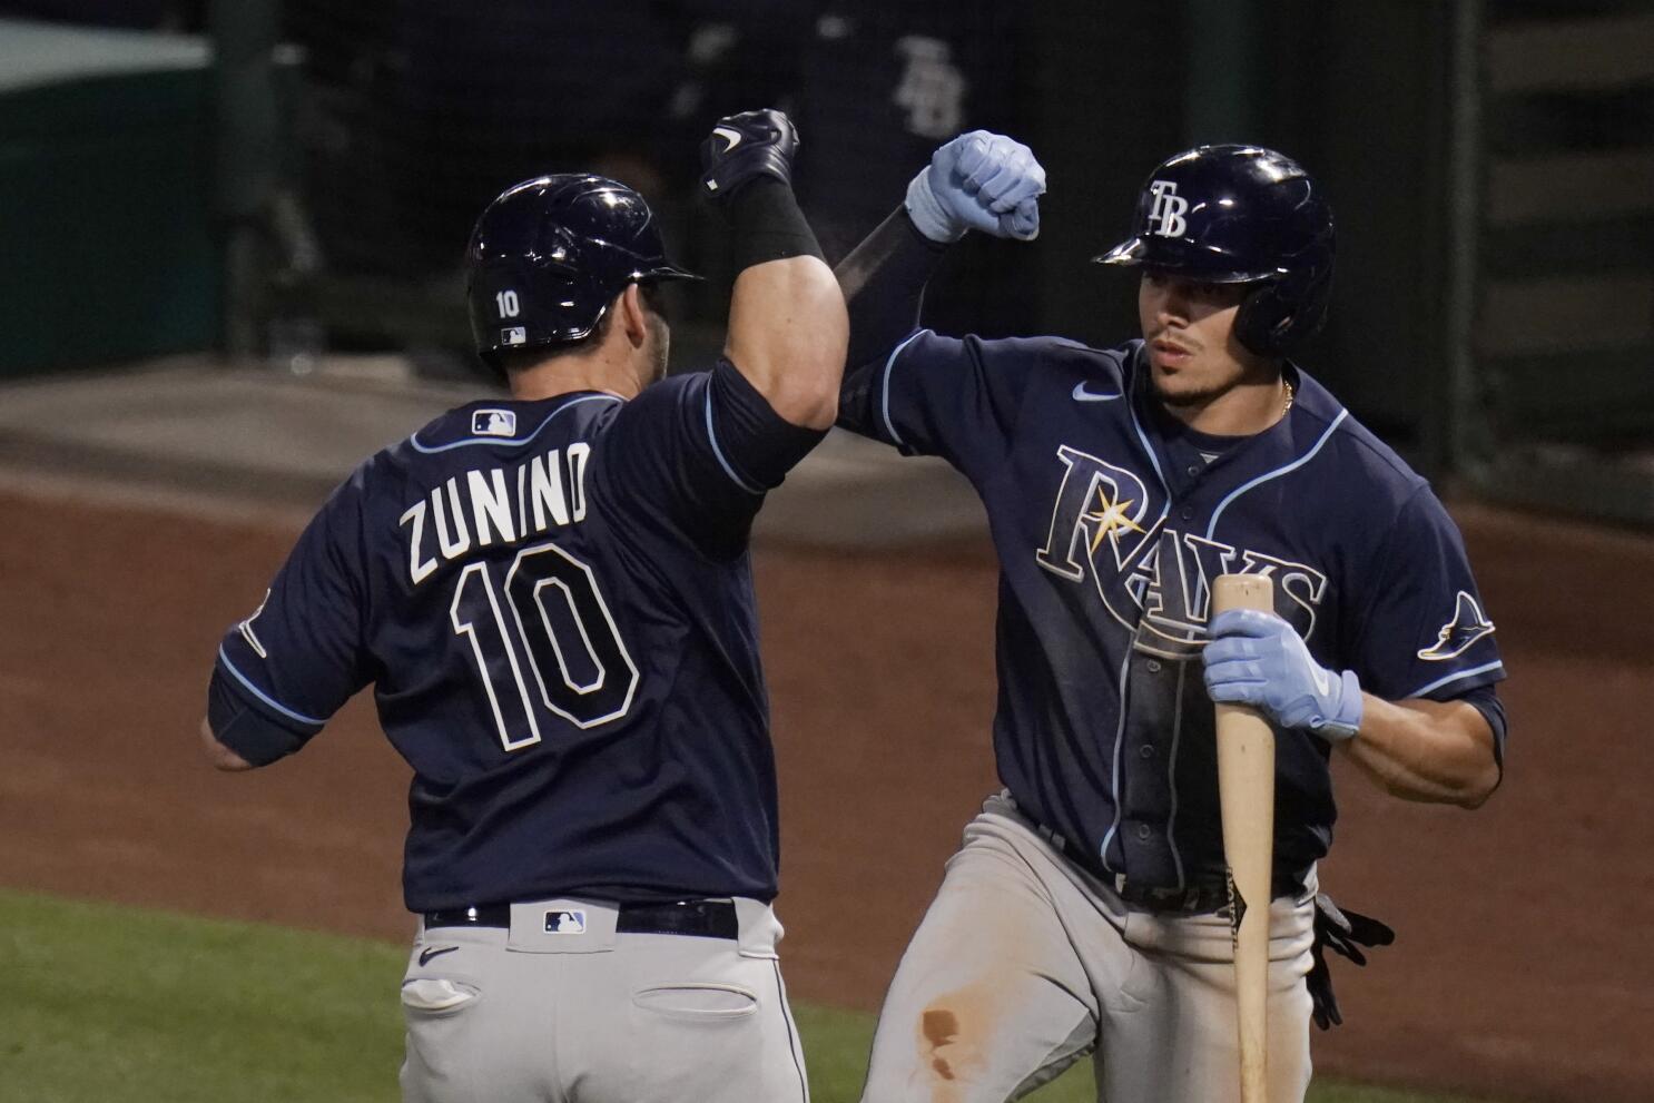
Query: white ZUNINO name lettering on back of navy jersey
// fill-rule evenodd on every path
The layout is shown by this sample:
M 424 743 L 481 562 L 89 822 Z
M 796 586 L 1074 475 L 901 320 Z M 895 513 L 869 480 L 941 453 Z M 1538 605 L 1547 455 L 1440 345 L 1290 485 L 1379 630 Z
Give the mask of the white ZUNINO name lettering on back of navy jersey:
M 590 453 L 590 445 L 577 442 L 524 463 L 476 468 L 432 488 L 397 523 L 407 529 L 414 585 L 471 547 L 514 544 L 584 521 Z

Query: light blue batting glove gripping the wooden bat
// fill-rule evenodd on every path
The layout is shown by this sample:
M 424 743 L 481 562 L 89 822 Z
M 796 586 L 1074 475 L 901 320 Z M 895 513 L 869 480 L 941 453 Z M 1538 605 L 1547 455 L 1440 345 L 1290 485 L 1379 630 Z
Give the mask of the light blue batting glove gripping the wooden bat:
M 1361 683 L 1310 658 L 1290 623 L 1255 609 L 1217 614 L 1206 645 L 1206 693 L 1214 701 L 1250 704 L 1282 728 L 1307 728 L 1322 739 L 1353 739 L 1361 728 Z

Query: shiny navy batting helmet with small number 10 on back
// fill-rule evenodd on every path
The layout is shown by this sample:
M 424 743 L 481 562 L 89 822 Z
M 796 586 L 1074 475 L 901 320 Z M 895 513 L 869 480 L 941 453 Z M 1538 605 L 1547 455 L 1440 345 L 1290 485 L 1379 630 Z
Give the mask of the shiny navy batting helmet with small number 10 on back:
M 504 349 L 589 337 L 629 283 L 698 278 L 667 260 L 642 195 L 587 174 L 506 189 L 465 250 L 471 337 L 495 365 Z

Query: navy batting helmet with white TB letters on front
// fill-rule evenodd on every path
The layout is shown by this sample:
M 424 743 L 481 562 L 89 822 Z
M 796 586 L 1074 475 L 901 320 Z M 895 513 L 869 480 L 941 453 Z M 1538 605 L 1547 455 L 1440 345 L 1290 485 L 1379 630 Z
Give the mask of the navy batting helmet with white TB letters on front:
M 1333 212 L 1297 162 L 1257 146 L 1201 146 L 1143 185 L 1135 235 L 1095 258 L 1202 283 L 1255 283 L 1236 336 L 1282 356 L 1320 329 L 1333 284 Z

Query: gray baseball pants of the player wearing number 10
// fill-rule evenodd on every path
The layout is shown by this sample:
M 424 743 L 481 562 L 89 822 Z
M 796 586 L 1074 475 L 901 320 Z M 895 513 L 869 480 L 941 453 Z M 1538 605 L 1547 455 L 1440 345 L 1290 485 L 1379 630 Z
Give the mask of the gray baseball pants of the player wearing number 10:
M 513 905 L 509 931 L 422 924 L 404 1101 L 809 1103 L 781 923 L 734 903 L 739 939 L 615 933 L 590 900 Z

